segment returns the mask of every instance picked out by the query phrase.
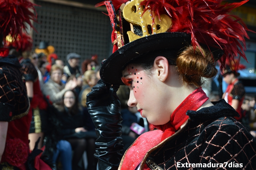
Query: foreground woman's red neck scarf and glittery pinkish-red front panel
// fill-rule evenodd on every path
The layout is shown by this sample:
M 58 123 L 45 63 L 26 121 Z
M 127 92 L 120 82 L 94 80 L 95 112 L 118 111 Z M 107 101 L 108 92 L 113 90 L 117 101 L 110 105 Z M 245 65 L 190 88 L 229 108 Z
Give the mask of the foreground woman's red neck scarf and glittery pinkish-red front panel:
M 196 111 L 207 100 L 208 97 L 201 87 L 189 94 L 173 111 L 168 123 L 155 125 L 160 130 L 146 132 L 137 138 L 133 145 L 126 151 L 121 170 L 135 170 L 151 148 L 173 135 L 188 120 L 189 116 L 186 115 L 188 110 Z M 148 169 L 146 164 L 143 169 Z

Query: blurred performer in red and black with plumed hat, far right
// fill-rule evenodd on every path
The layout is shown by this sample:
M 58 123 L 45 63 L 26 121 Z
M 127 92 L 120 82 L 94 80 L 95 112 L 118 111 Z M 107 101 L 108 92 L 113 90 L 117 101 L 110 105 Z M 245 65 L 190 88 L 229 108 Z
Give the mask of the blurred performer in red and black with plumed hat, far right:
M 226 65 L 222 70 L 223 81 L 228 84 L 225 93 L 222 98 L 232 106 L 239 117 L 235 117 L 238 121 L 242 122 L 242 104 L 245 96 L 245 89 L 243 83 L 238 80 L 238 70 L 245 69 L 243 64 L 240 64 L 238 60 L 231 61 L 229 65 Z

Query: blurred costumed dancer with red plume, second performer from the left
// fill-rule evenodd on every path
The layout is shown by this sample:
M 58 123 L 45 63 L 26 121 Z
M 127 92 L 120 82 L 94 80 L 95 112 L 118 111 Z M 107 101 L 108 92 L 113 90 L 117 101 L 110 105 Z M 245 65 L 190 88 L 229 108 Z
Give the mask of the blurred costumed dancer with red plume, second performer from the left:
M 37 55 L 32 54 L 31 49 L 33 40 L 30 36 L 25 33 L 18 35 L 18 38 L 12 42 L 8 42 L 9 48 L 16 50 L 17 57 L 20 57 L 21 70 L 25 77 L 27 95 L 30 100 L 30 112 L 32 112 L 31 127 L 29 129 L 29 147 L 32 150 L 35 146 L 35 142 L 41 137 L 38 147 L 41 148 L 43 145 L 43 135 L 46 130 L 47 124 L 47 103 L 43 97 L 40 89 L 39 76 L 37 71 Z M 34 58 L 35 57 L 35 58 Z M 33 62 L 33 63 L 32 63 Z

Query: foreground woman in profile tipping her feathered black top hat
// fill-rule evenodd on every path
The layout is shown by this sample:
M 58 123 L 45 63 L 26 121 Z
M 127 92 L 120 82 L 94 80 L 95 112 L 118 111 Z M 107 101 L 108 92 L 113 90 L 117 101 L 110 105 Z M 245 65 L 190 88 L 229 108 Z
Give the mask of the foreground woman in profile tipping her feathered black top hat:
M 255 169 L 256 142 L 224 100 L 211 103 L 202 77 L 217 74 L 226 58 L 245 58 L 246 26 L 229 12 L 246 1 L 105 1 L 113 27 L 113 54 L 87 95 L 98 139 L 100 170 Z M 240 51 L 239 49 L 242 49 Z M 119 85 L 128 106 L 157 130 L 142 134 L 121 159 Z

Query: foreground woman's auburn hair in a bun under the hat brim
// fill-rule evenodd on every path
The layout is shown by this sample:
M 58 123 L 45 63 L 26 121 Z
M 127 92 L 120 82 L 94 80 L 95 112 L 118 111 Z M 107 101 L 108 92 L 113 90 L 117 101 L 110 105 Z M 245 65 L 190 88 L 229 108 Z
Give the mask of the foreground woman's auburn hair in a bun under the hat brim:
M 128 64 L 132 63 L 140 66 L 150 75 L 150 70 L 157 56 L 164 56 L 169 64 L 175 65 L 183 82 L 188 83 L 190 86 L 201 87 L 204 83 L 202 77 L 212 78 L 218 73 L 213 55 L 209 50 L 202 47 L 196 47 L 194 50 L 192 46 L 188 46 L 182 49 L 182 52 L 171 49 L 155 50 L 143 54 Z

